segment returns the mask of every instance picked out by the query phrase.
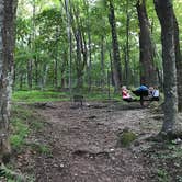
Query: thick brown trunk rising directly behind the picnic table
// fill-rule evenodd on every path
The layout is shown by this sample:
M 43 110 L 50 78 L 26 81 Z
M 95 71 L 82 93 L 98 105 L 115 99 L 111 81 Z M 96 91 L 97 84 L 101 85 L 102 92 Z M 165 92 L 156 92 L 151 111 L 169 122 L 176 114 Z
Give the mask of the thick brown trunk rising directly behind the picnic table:
M 156 86 L 157 71 L 153 65 L 153 47 L 150 38 L 149 21 L 146 11 L 145 0 L 138 0 L 137 4 L 139 20 L 139 52 L 140 52 L 140 83 Z

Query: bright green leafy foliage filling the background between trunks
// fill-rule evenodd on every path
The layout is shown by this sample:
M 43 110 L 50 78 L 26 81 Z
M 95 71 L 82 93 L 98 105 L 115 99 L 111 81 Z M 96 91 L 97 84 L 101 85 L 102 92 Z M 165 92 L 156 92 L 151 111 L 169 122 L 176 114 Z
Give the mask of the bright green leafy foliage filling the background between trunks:
M 68 41 L 68 16 L 65 9 L 65 1 L 59 0 L 35 0 L 19 1 L 18 20 L 16 20 L 16 48 L 15 48 L 15 89 L 27 88 L 29 61 L 32 61 L 32 81 L 33 89 L 57 87 L 54 81 L 56 78 L 57 64 L 57 81 L 58 87 L 68 87 L 69 77 L 77 79 L 77 52 L 76 35 L 80 30 L 81 36 L 86 42 L 87 48 L 87 66 L 89 67 L 89 54 L 91 53 L 92 80 L 106 80 L 106 72 L 111 70 L 112 37 L 109 23 L 109 0 L 75 0 L 69 1 L 68 14 L 70 15 L 70 33 L 71 33 L 71 67 L 69 62 L 69 41 Z M 139 84 L 139 27 L 136 11 L 136 0 L 121 1 L 112 0 L 115 10 L 117 38 L 120 54 L 123 65 L 123 78 L 125 79 L 125 57 L 126 57 L 126 25 L 128 18 L 128 67 L 130 84 Z M 35 14 L 33 7 L 35 5 Z M 151 41 L 155 47 L 153 61 L 159 72 L 162 72 L 161 57 L 161 39 L 160 24 L 156 15 L 153 1 L 146 1 L 148 19 L 151 27 Z M 180 32 L 182 26 L 181 7 L 182 2 L 174 0 L 173 7 L 179 22 Z M 89 39 L 90 36 L 90 39 Z M 182 36 L 182 34 L 180 34 Z M 91 50 L 89 42 L 91 41 Z M 81 44 L 81 43 L 80 43 Z M 101 66 L 101 45 L 104 49 L 104 67 Z M 82 53 L 86 50 L 81 50 Z M 81 53 L 81 54 L 82 54 Z M 83 55 L 81 55 L 83 56 Z M 104 70 L 102 70 L 104 69 Z M 89 78 L 88 68 L 83 70 L 83 79 Z M 71 72 L 71 76 L 69 75 Z M 45 80 L 44 80 L 45 79 Z M 61 84 L 61 81 L 66 83 Z M 84 84 L 88 82 L 84 81 Z

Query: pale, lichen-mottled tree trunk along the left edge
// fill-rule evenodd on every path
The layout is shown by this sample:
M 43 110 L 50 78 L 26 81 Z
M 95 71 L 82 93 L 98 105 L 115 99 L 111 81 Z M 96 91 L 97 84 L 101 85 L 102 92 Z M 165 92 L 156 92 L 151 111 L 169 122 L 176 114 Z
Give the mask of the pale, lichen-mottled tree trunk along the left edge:
M 0 1 L 0 162 L 10 153 L 9 116 L 13 73 L 16 0 Z

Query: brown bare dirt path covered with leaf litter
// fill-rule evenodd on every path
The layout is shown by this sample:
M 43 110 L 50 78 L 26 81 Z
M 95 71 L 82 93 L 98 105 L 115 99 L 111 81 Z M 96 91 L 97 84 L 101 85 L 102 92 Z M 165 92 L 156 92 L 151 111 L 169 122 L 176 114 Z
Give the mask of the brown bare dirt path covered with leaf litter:
M 149 147 L 144 138 L 161 122 L 148 109 L 96 102 L 75 109 L 64 102 L 39 113 L 50 124 L 45 136 L 53 156 L 36 159 L 37 182 L 152 181 L 141 156 Z M 137 134 L 137 143 L 117 147 L 117 134 L 126 127 Z

